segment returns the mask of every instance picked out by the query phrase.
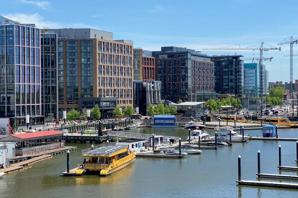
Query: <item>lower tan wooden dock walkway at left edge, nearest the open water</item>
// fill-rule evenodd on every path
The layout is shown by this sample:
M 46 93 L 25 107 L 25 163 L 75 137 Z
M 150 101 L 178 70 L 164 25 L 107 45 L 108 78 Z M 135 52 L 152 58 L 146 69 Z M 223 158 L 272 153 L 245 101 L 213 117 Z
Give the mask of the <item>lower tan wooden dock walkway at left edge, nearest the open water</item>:
M 29 164 L 32 164 L 36 161 L 40 161 L 40 160 L 47 159 L 50 157 L 52 157 L 52 155 L 42 155 L 42 156 L 34 157 L 29 160 L 25 160 L 25 161 L 21 161 L 21 162 L 12 164 L 10 167 L 2 169 L 1 172 L 12 173 L 12 172 L 19 171 L 19 170 L 25 170 L 25 169 L 31 168 L 31 166 L 29 166 Z

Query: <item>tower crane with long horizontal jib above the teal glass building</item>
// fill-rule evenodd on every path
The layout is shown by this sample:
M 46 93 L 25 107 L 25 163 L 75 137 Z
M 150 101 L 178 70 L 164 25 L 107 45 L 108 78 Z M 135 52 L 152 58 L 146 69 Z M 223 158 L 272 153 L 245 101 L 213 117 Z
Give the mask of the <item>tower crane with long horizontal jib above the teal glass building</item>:
M 254 44 L 250 47 L 240 47 L 240 45 L 245 45 L 245 44 Z M 260 44 L 260 47 L 258 48 L 254 48 L 253 46 Z M 265 43 L 267 44 L 267 43 Z M 203 48 L 204 49 L 209 49 L 209 50 L 260 50 L 260 59 L 259 59 L 259 76 L 260 76 L 260 88 L 262 88 L 261 90 L 261 94 L 264 93 L 265 89 L 265 85 L 264 85 L 264 71 L 263 71 L 263 51 L 269 51 L 272 49 L 278 49 L 279 51 L 281 51 L 281 48 L 279 47 L 274 47 L 272 45 L 270 45 L 271 47 L 269 48 L 263 48 L 264 42 L 260 42 L 260 43 L 244 43 L 244 44 L 237 44 L 239 45 L 239 48 L 234 48 L 232 46 L 236 46 L 236 45 L 231 45 L 228 47 L 220 47 L 220 48 Z M 269 45 L 269 44 L 267 44 Z

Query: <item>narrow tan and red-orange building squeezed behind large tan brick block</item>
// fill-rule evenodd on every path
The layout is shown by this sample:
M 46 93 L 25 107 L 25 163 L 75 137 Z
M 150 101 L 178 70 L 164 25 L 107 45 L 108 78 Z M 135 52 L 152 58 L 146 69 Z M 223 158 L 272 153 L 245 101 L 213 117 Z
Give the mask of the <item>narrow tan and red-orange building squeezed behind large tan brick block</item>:
M 149 52 L 141 48 L 133 49 L 133 80 L 155 80 L 155 58 L 149 56 Z

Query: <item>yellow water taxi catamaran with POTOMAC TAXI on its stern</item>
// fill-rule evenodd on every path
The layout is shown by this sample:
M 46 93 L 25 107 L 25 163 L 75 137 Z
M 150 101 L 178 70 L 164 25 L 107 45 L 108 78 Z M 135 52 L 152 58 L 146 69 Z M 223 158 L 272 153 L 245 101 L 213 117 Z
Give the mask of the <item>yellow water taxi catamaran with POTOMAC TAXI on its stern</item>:
M 127 145 L 104 143 L 89 149 L 82 150 L 84 163 L 79 164 L 76 175 L 94 173 L 106 176 L 114 173 L 135 161 L 135 154 Z

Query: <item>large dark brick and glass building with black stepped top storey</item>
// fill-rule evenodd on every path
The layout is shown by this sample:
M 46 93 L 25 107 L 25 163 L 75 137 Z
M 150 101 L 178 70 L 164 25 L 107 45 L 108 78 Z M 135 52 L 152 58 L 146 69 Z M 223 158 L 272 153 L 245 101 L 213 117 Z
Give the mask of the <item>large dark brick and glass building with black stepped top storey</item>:
M 214 91 L 210 56 L 182 47 L 161 47 L 156 58 L 156 80 L 161 81 L 162 99 L 196 101 L 198 91 Z

